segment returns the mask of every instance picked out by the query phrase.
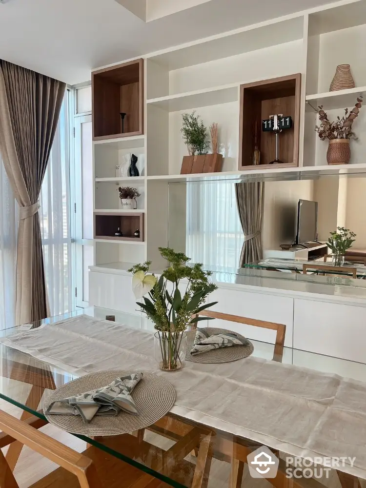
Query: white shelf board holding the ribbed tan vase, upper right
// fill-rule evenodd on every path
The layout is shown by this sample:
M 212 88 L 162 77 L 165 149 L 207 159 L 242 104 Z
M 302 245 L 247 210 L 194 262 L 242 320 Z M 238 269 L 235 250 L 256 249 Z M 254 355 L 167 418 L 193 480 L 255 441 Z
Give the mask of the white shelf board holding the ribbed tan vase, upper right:
M 351 109 L 357 102 L 357 97 L 363 93 L 366 93 L 366 86 L 356 86 L 356 88 L 348 88 L 347 90 L 306 95 L 305 100 L 309 102 L 306 104 L 306 110 L 313 111 L 313 108 L 318 109 L 319 105 L 323 105 L 324 110 L 337 108 Z

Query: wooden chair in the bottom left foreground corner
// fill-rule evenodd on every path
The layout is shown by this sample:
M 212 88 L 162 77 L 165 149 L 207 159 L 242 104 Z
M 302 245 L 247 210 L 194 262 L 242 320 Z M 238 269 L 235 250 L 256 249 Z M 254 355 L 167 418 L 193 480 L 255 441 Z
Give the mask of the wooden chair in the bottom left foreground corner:
M 22 422 L 1 410 L 0 430 L 4 433 L 2 446 L 8 444 L 11 446 L 11 443 L 20 442 L 61 466 L 30 488 L 120 488 L 122 486 L 121 480 L 125 486 L 130 488 L 169 488 L 163 481 L 116 459 L 98 447 L 89 447 L 83 453 L 76 452 L 31 427 L 27 422 Z M 133 441 L 135 444 L 139 442 L 130 434 L 122 436 L 121 439 L 119 437 L 111 438 L 110 442 L 114 442 L 111 448 L 119 450 L 122 442 L 122 445 L 125 444 L 125 450 L 131 449 L 134 447 Z M 102 480 L 104 484 L 102 484 Z M 0 488 L 19 488 L 1 449 Z

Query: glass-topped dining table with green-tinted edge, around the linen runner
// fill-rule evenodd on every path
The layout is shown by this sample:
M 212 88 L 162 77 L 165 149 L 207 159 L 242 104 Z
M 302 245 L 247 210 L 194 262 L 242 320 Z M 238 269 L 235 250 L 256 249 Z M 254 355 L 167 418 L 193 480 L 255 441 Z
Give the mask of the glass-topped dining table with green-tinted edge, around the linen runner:
M 8 336 L 20 330 L 38 328 L 44 324 L 57 324 L 61 320 L 76 315 L 86 314 L 98 319 L 105 319 L 112 315 L 117 323 L 123 323 L 132 328 L 144 329 L 153 333 L 153 325 L 141 315 L 111 311 L 98 307 L 80 309 L 61 316 L 45 319 L 33 324 L 22 325 L 12 329 L 0 331 L 0 336 Z M 272 360 L 274 344 L 252 340 L 253 355 L 258 358 Z M 277 351 L 278 353 L 278 351 Z M 366 378 L 366 364 L 346 361 L 338 358 L 322 356 L 291 347 L 284 347 L 280 353 L 281 361 L 287 365 L 310 367 L 325 373 L 336 373 L 341 376 L 364 381 Z M 171 374 L 179 374 L 171 373 Z M 35 359 L 9 346 L 0 345 L 0 399 L 4 405 L 20 407 L 27 412 L 27 422 L 40 428 L 47 424 L 41 405 L 44 399 L 56 388 L 76 378 L 70 371 L 62 370 L 46 362 Z M 33 420 L 32 420 L 33 419 Z M 0 433 L 0 448 L 4 447 L 5 438 Z M 253 482 L 253 486 L 267 483 L 265 480 L 251 480 L 248 474 L 247 456 L 260 447 L 258 443 L 239 435 L 233 435 L 199 424 L 177 415 L 168 413 L 154 425 L 115 437 L 80 436 L 87 444 L 94 446 L 116 459 L 141 471 L 138 487 L 149 487 L 152 479 L 161 483 L 151 485 L 156 487 L 175 488 L 238 488 Z M 10 445 L 9 449 L 13 447 Z M 289 485 L 286 478 L 286 453 L 269 447 L 274 456 L 279 459 L 277 475 L 268 480 L 275 488 Z M 19 449 L 15 446 L 14 450 Z M 13 452 L 17 459 L 19 452 Z M 86 454 L 87 455 L 87 454 Z M 332 476 L 339 478 L 343 488 L 354 485 L 353 476 L 332 469 Z M 153 478 L 151 478 L 153 477 Z M 318 477 L 319 478 L 319 477 Z M 328 476 L 326 476 L 328 478 Z M 292 486 L 302 486 L 302 482 L 309 480 L 292 478 Z M 320 487 L 321 479 L 314 483 Z M 357 481 L 357 480 L 356 480 Z M 337 480 L 338 482 L 338 480 Z M 243 481 L 244 485 L 244 481 Z M 264 486 L 263 485 L 263 486 Z M 329 486 L 326 480 L 325 485 Z M 123 485 L 121 485 L 122 487 Z M 128 485 L 130 486 L 130 485 Z M 132 485 L 135 487 L 135 485 Z M 313 485 L 314 486 L 314 485 Z M 337 485 L 334 485 L 337 486 Z

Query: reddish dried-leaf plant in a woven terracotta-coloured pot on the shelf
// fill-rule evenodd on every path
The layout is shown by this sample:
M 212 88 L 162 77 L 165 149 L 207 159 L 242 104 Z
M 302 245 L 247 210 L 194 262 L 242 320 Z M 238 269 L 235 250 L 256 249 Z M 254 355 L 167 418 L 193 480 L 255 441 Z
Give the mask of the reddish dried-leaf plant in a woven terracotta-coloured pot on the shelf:
M 350 139 L 357 140 L 358 137 L 352 131 L 352 124 L 358 117 L 360 108 L 362 107 L 362 97 L 357 98 L 357 103 L 348 112 L 345 108 L 345 115 L 334 122 L 329 122 L 323 106 L 319 106 L 319 120 L 320 125 L 315 126 L 320 139 L 329 140 L 328 151 L 326 153 L 326 161 L 328 164 L 348 164 L 351 157 L 351 149 L 349 147 Z

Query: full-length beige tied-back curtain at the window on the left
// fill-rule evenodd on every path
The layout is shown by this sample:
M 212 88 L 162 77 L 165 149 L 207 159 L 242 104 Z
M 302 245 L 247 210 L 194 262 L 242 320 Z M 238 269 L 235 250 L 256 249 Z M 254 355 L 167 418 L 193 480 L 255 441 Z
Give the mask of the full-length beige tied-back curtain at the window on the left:
M 38 209 L 65 83 L 0 60 L 0 153 L 19 203 L 16 322 L 47 316 Z

